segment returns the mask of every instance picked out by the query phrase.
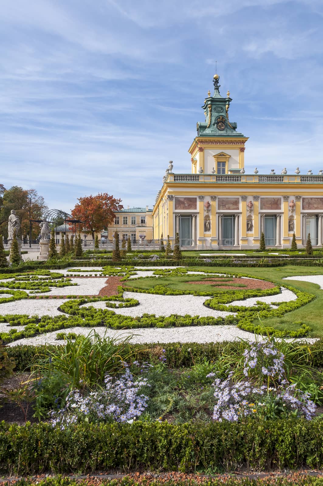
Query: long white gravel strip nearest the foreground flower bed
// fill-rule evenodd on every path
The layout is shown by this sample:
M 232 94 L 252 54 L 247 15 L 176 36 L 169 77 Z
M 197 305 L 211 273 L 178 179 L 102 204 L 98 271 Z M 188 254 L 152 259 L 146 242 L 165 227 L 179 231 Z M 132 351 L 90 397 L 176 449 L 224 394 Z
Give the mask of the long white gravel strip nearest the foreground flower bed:
M 236 341 L 237 339 L 248 339 L 255 341 L 255 336 L 251 332 L 243 331 L 235 326 L 196 326 L 185 328 L 167 328 L 167 329 L 133 329 L 131 330 L 112 330 L 105 327 L 92 328 L 106 337 L 126 337 L 132 335 L 132 343 L 212 343 L 222 341 Z M 56 341 L 57 332 L 75 332 L 76 334 L 83 334 L 87 336 L 91 328 L 68 328 L 60 331 L 48 332 L 47 334 L 40 334 L 33 338 L 19 339 L 10 343 L 8 346 L 17 346 L 18 344 L 33 344 L 34 346 L 41 344 L 63 344 L 63 340 Z M 266 339 L 266 336 L 264 336 Z M 306 341 L 313 343 L 317 339 L 307 338 L 299 339 L 298 341 Z

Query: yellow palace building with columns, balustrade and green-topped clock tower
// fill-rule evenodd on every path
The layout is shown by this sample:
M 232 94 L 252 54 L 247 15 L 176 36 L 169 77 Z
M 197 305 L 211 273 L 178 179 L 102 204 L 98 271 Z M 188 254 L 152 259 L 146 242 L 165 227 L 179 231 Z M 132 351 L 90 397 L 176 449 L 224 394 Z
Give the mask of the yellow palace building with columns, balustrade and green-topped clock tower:
M 288 248 L 293 233 L 305 246 L 308 233 L 314 246 L 322 246 L 323 171 L 319 174 L 252 174 L 245 172 L 248 137 L 229 120 L 229 91 L 220 95 L 215 74 L 214 93 L 208 92 L 202 109 L 205 121 L 197 123 L 197 136 L 188 152 L 191 172 L 176 174 L 169 163 L 162 189 L 152 210 L 153 237 L 179 233 L 182 248 Z

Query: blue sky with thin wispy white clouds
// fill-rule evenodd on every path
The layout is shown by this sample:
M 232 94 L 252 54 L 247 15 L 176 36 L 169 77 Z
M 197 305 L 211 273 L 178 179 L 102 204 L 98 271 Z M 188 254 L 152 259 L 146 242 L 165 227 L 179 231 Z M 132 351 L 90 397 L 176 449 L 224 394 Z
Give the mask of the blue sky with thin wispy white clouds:
M 322 0 L 2 0 L 0 52 L 0 183 L 51 209 L 190 173 L 215 61 L 246 173 L 323 169 Z

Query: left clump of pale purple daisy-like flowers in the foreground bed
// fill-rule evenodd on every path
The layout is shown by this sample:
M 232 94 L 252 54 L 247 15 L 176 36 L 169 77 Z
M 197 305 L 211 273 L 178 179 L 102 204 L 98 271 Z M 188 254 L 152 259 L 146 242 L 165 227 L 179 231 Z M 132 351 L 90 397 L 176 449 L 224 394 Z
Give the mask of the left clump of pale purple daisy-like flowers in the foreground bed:
M 117 380 L 106 375 L 104 384 L 102 390 L 92 391 L 87 396 L 72 391 L 66 398 L 65 407 L 52 412 L 51 424 L 64 430 L 83 420 L 90 423 L 132 423 L 143 414 L 148 397 L 140 394 L 140 391 L 144 386 L 149 386 L 146 378 L 135 381 L 129 368 L 126 368 Z

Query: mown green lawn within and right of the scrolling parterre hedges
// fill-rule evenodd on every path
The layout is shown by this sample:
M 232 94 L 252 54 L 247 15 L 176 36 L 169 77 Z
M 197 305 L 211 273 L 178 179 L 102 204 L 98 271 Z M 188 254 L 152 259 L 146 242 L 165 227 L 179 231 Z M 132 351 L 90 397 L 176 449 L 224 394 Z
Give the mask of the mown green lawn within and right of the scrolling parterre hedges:
M 190 267 L 189 270 L 204 271 L 205 267 Z M 210 268 L 208 268 L 210 269 Z M 296 330 L 299 328 L 299 321 L 312 328 L 310 336 L 323 338 L 323 290 L 320 290 L 319 285 L 302 282 L 299 280 L 283 280 L 285 277 L 302 276 L 302 275 L 323 275 L 323 268 L 321 267 L 301 267 L 296 265 L 287 265 L 285 267 L 270 267 L 270 268 L 234 268 L 234 267 L 212 267 L 212 270 L 219 273 L 237 273 L 242 275 L 250 275 L 257 278 L 268 278 L 282 286 L 295 287 L 298 290 L 309 292 L 316 295 L 309 304 L 306 304 L 299 309 L 287 312 L 282 318 L 270 318 L 262 324 L 265 326 L 274 326 L 276 329 Z M 197 290 L 204 292 L 212 292 L 214 294 L 223 292 L 222 289 L 217 289 L 212 285 L 194 285 L 186 283 L 188 280 L 194 281 L 204 276 L 181 276 L 181 277 L 162 277 L 158 279 L 158 284 L 168 284 L 171 289 L 179 290 Z M 229 282 L 227 282 L 229 283 Z M 157 284 L 156 278 L 143 278 L 139 280 L 128 280 L 126 286 L 134 288 L 149 289 Z M 228 291 L 230 292 L 230 291 Z M 294 323 L 297 324 L 294 324 Z

